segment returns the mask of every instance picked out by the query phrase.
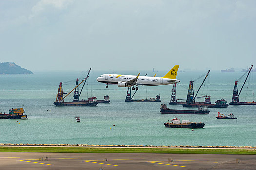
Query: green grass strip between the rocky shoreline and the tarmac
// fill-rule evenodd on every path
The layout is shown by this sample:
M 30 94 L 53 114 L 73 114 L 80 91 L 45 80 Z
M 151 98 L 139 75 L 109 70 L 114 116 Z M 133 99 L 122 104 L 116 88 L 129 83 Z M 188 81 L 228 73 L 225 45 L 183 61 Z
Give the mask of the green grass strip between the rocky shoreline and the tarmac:
M 167 154 L 250 154 L 246 149 L 188 149 L 188 148 L 96 148 L 96 147 L 0 147 L 0 152 L 45 153 L 167 153 Z

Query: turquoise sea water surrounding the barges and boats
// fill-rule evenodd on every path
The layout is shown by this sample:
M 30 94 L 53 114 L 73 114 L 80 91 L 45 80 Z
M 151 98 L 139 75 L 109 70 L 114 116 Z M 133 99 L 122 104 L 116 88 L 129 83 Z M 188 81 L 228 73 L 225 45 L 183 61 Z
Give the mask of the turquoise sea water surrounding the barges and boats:
M 96 81 L 105 71 L 92 72 L 80 99 L 96 96 L 103 99 L 109 95 L 109 104 L 96 107 L 56 107 L 59 82 L 69 92 L 75 87 L 76 78 L 86 77 L 86 72 L 36 72 L 33 75 L 0 75 L 0 112 L 24 107 L 28 120 L 0 119 L 0 143 L 45 143 L 45 144 L 124 144 L 124 145 L 228 145 L 256 146 L 256 106 L 230 105 L 228 108 L 208 108 L 209 115 L 170 115 L 160 113 L 160 104 L 171 109 L 183 109 L 182 105 L 168 105 L 173 85 L 140 86 L 134 99 L 150 99 L 161 96 L 162 102 L 124 102 L 127 88 Z M 116 73 L 137 75 L 138 72 Z M 153 76 L 151 71 L 141 72 Z M 206 71 L 205 71 L 206 73 Z M 177 98 L 186 98 L 190 80 L 205 75 L 203 71 L 188 71 L 177 74 Z M 165 72 L 157 73 L 163 76 Z M 211 71 L 199 96 L 210 95 L 211 102 L 226 99 L 231 102 L 235 80 L 243 73 Z M 252 102 L 255 74 L 251 74 L 240 95 L 240 101 Z M 195 94 L 204 76 L 194 82 Z M 82 79 L 80 79 L 82 80 Z M 240 90 L 244 79 L 238 82 Z M 81 87 L 80 87 L 81 89 Z M 256 86 L 254 84 L 254 89 Z M 132 91 L 134 92 L 134 91 Z M 72 102 L 73 93 L 65 98 Z M 181 100 L 185 102 L 185 99 Z M 196 99 L 203 102 L 204 98 Z M 197 108 L 184 108 L 195 109 Z M 237 119 L 216 119 L 218 111 L 225 115 L 233 113 Z M 77 123 L 75 117 L 81 117 Z M 169 119 L 204 122 L 203 129 L 165 128 Z M 115 125 L 115 126 L 113 126 Z

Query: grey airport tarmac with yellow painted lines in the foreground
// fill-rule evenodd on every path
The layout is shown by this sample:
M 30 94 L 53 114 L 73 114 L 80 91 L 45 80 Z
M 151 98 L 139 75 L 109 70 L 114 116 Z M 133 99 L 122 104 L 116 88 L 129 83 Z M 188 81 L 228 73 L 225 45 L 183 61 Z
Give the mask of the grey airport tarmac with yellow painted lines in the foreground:
M 45 160 L 46 157 L 48 160 Z M 253 170 L 256 155 L 0 152 L 0 170 Z

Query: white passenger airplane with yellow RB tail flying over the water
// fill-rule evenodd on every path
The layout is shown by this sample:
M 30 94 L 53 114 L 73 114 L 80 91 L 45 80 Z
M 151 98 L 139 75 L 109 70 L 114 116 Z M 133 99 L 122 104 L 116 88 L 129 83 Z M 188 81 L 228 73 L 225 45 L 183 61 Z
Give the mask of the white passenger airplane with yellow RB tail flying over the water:
M 165 76 L 163 77 L 149 77 L 139 76 L 140 73 L 135 75 L 119 75 L 119 74 L 102 74 L 96 80 L 101 83 L 105 83 L 108 88 L 108 84 L 117 84 L 118 87 L 132 87 L 132 90 L 138 90 L 138 85 L 156 86 L 156 85 L 168 85 L 180 82 L 176 79 L 179 65 L 175 65 Z M 136 88 L 134 87 L 136 86 Z

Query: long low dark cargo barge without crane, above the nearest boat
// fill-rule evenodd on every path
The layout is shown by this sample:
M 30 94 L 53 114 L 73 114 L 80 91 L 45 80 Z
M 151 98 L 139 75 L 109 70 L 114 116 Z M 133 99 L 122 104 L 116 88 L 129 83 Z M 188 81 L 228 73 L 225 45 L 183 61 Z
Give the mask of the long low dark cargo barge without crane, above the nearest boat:
M 161 113 L 162 114 L 199 114 L 205 115 L 209 114 L 210 111 L 207 109 L 206 106 L 198 107 L 198 110 L 177 110 L 177 109 L 169 109 L 167 108 L 166 104 L 161 104 Z

